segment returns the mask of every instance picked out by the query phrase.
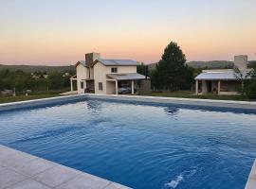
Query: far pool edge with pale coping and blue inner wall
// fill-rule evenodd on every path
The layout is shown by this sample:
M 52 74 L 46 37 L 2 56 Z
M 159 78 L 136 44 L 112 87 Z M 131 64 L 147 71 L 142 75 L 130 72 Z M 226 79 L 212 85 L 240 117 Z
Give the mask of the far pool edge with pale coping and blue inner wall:
M 211 99 L 197 99 L 197 98 L 176 98 L 176 97 L 158 97 L 158 96 L 144 96 L 144 95 L 119 95 L 119 94 L 73 94 L 73 95 L 3 103 L 3 104 L 0 104 L 0 112 L 26 109 L 26 108 L 32 108 L 32 107 L 40 107 L 40 106 L 52 105 L 56 103 L 64 103 L 68 101 L 71 102 L 71 101 L 82 100 L 86 98 L 256 111 L 256 101 L 211 100 Z

